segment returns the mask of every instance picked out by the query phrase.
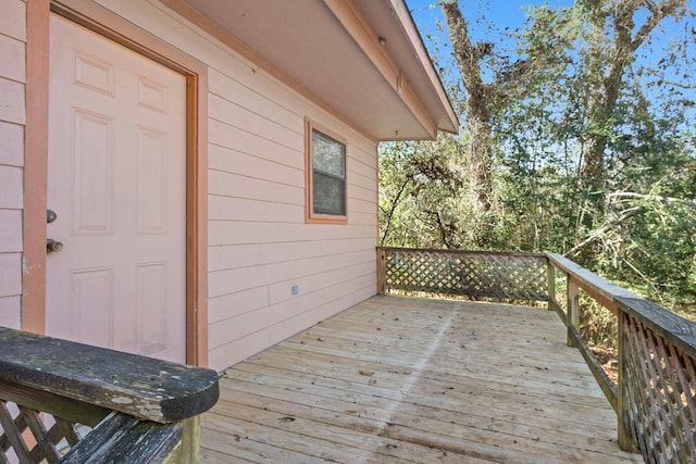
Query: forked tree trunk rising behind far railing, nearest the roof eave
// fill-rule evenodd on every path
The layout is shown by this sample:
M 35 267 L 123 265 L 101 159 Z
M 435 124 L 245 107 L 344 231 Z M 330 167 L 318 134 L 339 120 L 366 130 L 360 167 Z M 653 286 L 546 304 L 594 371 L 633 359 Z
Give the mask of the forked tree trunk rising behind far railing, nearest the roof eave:
M 473 208 L 473 224 L 477 248 L 494 247 L 493 235 L 496 226 L 506 221 L 500 216 L 500 205 L 494 200 L 496 191 L 496 153 L 505 145 L 506 125 L 510 109 L 526 98 L 530 79 L 542 74 L 551 75 L 557 67 L 563 67 L 569 60 L 564 50 L 570 39 L 566 35 L 546 34 L 545 40 L 533 41 L 527 58 L 511 60 L 506 52 L 499 54 L 495 43 L 473 42 L 469 34 L 469 23 L 457 0 L 442 2 L 443 13 L 452 43 L 463 88 L 465 90 L 465 118 L 462 131 L 467 141 L 467 170 Z M 532 29 L 546 32 L 562 29 L 559 23 L 564 16 L 545 9 L 538 13 Z M 484 80 L 484 66 L 488 71 Z M 538 78 L 538 77 L 536 77 Z M 497 210 L 497 211 L 496 211 Z

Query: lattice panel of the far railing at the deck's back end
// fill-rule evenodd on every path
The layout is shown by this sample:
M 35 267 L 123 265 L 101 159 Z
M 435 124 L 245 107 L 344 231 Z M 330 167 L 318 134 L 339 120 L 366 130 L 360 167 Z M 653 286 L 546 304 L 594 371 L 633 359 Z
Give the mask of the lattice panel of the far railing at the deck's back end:
M 472 300 L 547 301 L 544 256 L 386 249 L 385 290 L 458 294 Z

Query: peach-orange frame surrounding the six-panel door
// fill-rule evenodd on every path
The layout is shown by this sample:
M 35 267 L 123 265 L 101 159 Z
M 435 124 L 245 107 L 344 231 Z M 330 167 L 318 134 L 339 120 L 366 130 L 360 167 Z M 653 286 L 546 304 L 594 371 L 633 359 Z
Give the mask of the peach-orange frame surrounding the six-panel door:
M 22 329 L 46 333 L 51 13 L 186 77 L 186 363 L 208 366 L 208 67 L 90 0 L 27 2 Z

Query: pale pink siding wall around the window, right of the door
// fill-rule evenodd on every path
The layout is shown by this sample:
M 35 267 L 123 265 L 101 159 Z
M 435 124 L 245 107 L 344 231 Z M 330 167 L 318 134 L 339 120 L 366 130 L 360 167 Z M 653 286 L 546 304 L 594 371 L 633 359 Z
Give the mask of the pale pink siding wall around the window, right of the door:
M 209 66 L 210 366 L 374 294 L 375 142 L 164 7 L 103 3 Z M 304 117 L 348 140 L 348 225 L 304 223 Z

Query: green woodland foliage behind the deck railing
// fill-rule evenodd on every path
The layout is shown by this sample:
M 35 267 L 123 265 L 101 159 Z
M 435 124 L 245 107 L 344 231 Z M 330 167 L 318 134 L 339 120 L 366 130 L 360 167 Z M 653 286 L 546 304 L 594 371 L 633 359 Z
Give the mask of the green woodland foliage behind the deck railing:
M 435 142 L 384 145 L 382 243 L 559 252 L 666 308 L 696 313 L 696 22 L 672 1 L 668 16 L 637 36 L 646 5 L 659 3 L 531 7 L 525 27 L 507 33 L 513 52 L 485 63 L 490 210 L 473 204 L 465 127 Z M 664 39 L 666 22 L 683 34 Z M 448 87 L 465 115 L 461 81 Z M 593 153 L 600 155 L 594 171 Z

